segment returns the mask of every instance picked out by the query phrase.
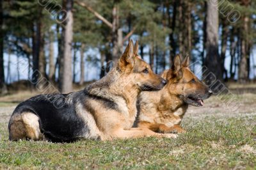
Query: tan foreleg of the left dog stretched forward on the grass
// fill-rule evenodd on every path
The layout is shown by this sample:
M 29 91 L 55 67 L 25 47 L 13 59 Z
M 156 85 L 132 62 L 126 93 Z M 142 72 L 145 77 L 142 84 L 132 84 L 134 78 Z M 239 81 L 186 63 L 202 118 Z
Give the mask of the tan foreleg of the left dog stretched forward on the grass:
M 168 138 L 176 138 L 177 135 L 175 134 L 157 134 L 156 132 L 153 132 L 152 130 L 149 130 L 147 128 L 131 128 L 131 130 L 124 130 L 122 128 L 119 128 L 118 130 L 115 130 L 112 137 L 113 138 L 119 138 L 119 139 L 125 139 L 125 138 L 138 138 L 138 137 L 168 137 Z

